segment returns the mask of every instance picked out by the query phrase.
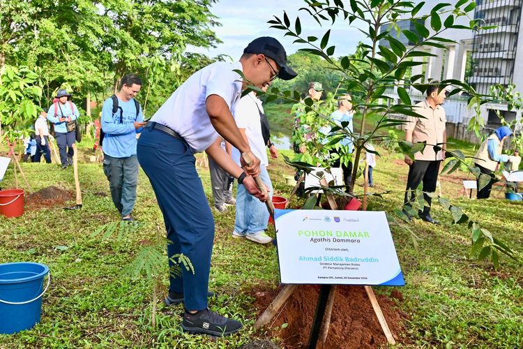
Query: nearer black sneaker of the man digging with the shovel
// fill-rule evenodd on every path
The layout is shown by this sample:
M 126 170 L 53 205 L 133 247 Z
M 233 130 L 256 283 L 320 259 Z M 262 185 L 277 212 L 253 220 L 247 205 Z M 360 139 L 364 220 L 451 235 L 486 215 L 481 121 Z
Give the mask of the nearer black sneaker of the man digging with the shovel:
M 198 311 L 195 314 L 183 313 L 181 328 L 184 332 L 210 334 L 211 336 L 227 336 L 238 332 L 243 325 L 234 319 L 214 313 L 209 309 Z

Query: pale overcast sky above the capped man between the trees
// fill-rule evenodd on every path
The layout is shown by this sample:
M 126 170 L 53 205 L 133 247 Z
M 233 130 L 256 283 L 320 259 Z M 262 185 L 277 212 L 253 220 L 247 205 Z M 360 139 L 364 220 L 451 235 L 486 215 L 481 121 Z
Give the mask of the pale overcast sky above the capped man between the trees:
M 305 6 L 303 0 L 265 0 L 265 1 L 242 1 L 242 0 L 220 0 L 212 8 L 211 12 L 218 16 L 218 22 L 222 27 L 216 27 L 216 35 L 222 44 L 212 50 L 202 50 L 190 47 L 192 52 L 206 53 L 211 57 L 217 54 L 229 54 L 236 61 L 243 53 L 243 48 L 258 36 L 273 36 L 285 47 L 287 54 L 296 52 L 304 45 L 293 44 L 293 38 L 283 36 L 285 31 L 269 28 L 271 24 L 267 21 L 273 19 L 274 15 L 283 18 L 283 12 L 293 23 L 298 15 L 298 8 Z M 305 11 L 299 11 L 302 35 L 317 36 L 321 38 L 326 30 L 331 29 L 330 45 L 335 45 L 335 57 L 352 54 L 356 50 L 358 41 L 365 40 L 361 31 L 354 27 L 348 27 L 347 22 L 337 20 L 331 27 L 331 22 L 322 22 L 319 27 L 310 15 Z

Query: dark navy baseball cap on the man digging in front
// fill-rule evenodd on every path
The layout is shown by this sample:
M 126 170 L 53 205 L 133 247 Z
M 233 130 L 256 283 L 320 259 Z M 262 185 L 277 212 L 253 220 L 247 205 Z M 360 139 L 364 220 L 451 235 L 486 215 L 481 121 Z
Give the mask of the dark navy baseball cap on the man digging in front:
M 287 54 L 280 41 L 271 36 L 261 36 L 252 40 L 243 53 L 264 54 L 273 59 L 280 66 L 278 77 L 282 80 L 291 80 L 298 75 L 294 70 L 287 66 Z

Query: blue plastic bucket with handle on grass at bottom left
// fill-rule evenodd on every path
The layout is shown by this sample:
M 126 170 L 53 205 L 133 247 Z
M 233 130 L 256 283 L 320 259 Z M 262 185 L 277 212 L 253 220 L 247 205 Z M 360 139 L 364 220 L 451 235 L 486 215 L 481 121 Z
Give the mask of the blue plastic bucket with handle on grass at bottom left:
M 40 263 L 0 264 L 0 334 L 13 334 L 30 329 L 40 322 L 43 279 L 49 267 Z

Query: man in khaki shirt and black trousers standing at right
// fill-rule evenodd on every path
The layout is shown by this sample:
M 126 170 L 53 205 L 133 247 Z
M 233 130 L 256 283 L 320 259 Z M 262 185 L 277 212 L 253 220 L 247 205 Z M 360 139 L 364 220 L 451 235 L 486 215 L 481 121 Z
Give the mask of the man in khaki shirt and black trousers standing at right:
M 432 84 L 427 89 L 425 101 L 416 104 L 414 112 L 423 118 L 407 117 L 405 125 L 405 140 L 414 144 L 427 142 L 423 153 L 418 151 L 414 154 L 414 161 L 405 156 L 405 163 L 409 165 L 409 177 L 407 178 L 407 190 L 405 191 L 405 205 L 410 206 L 414 201 L 414 191 L 423 182 L 423 191 L 432 193 L 436 191 L 438 181 L 439 165 L 445 160 L 447 133 L 445 123 L 447 121 L 444 108 L 441 106 L 446 99 L 448 91 L 438 84 Z M 439 145 L 443 150 L 434 151 L 433 146 Z M 410 194 L 410 195 L 409 195 Z M 438 224 L 430 216 L 430 205 L 432 199 L 423 194 L 428 206 L 423 207 L 423 211 L 418 212 L 418 216 L 429 223 Z M 405 212 L 412 219 L 411 215 Z

